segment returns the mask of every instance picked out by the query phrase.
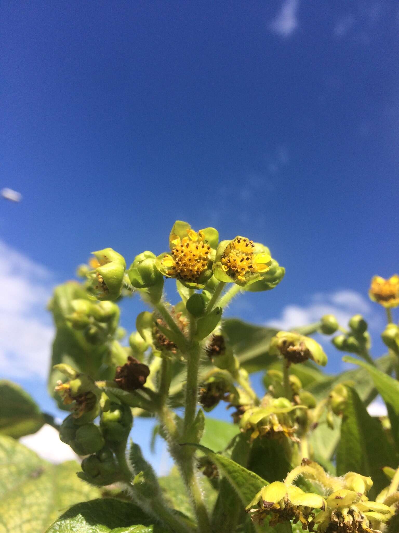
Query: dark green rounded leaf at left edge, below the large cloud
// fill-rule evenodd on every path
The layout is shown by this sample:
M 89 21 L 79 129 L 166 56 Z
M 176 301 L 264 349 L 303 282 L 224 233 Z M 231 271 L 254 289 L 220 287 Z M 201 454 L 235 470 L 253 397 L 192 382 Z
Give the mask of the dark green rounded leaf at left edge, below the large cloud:
M 19 385 L 0 381 L 0 435 L 19 439 L 36 433 L 44 424 L 35 400 Z

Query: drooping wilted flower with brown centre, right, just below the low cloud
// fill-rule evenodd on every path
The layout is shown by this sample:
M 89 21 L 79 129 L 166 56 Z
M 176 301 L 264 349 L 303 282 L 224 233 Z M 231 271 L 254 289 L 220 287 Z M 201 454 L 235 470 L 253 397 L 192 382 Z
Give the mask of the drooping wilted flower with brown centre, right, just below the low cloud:
M 297 364 L 308 359 L 321 366 L 327 364 L 327 356 L 320 344 L 298 333 L 278 332 L 271 340 L 269 354 L 284 357 L 287 364 Z

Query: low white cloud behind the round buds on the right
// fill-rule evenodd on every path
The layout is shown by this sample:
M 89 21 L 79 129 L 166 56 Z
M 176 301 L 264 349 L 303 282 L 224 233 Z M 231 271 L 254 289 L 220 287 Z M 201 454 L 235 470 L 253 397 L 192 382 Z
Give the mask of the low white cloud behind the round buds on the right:
M 287 305 L 280 318 L 269 320 L 268 325 L 290 329 L 317 322 L 323 314 L 334 314 L 339 324 L 345 326 L 357 313 L 362 313 L 370 325 L 375 325 L 378 320 L 372 314 L 369 302 L 361 294 L 349 289 L 339 290 L 332 294 L 314 294 L 305 306 Z

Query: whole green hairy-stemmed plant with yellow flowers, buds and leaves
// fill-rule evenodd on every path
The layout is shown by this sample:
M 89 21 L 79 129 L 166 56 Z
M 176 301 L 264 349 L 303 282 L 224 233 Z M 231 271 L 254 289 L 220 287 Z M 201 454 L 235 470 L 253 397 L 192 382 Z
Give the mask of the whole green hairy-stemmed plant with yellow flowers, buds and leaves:
M 176 221 L 168 252 L 145 251 L 127 268 L 105 248 L 78 274 L 82 282 L 57 287 L 49 302 L 57 331 L 48 386 L 70 411 L 60 439 L 101 499 L 72 506 L 48 533 L 399 532 L 398 276 L 371 281 L 388 322 L 388 353 L 373 358 L 360 314 L 347 328 L 327 315 L 290 331 L 224 319 L 233 297 L 284 278 L 269 248 L 246 237 L 219 242 L 214 228 Z M 169 279 L 176 305 L 165 297 Z M 149 310 L 123 346 L 118 302 L 132 294 Z M 316 333 L 334 335 L 357 369 L 323 373 Z M 250 379 L 259 371 L 262 397 Z M 388 416 L 368 414 L 378 393 Z M 204 415 L 220 402 L 231 424 Z M 156 418 L 153 438 L 177 467 L 169 477 L 157 478 L 134 442 L 137 417 Z M 15 437 L 10 427 L 3 433 Z

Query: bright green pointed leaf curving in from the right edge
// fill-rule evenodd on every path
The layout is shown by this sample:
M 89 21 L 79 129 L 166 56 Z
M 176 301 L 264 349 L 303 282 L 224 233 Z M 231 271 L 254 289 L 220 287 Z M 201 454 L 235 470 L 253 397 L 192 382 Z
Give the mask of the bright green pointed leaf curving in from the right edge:
M 386 403 L 392 437 L 395 441 L 396 451 L 399 452 L 399 381 L 355 357 L 345 356 L 343 360 L 363 367 L 371 376 L 376 389 Z

